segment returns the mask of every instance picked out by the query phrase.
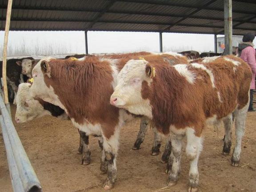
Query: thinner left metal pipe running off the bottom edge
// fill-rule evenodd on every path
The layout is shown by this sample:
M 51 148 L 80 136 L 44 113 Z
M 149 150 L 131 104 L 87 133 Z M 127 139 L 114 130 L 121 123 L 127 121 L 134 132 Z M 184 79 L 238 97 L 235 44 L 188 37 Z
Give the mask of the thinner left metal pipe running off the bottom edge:
M 24 188 L 22 186 L 22 182 L 20 179 L 20 175 L 18 172 L 16 162 L 14 160 L 14 156 L 12 154 L 12 147 L 11 147 L 8 135 L 7 135 L 6 126 L 4 124 L 4 119 L 3 119 L 2 115 L 0 115 L 0 124 L 1 124 L 2 133 L 3 133 L 3 137 L 4 137 L 4 146 L 6 149 L 6 156 L 7 156 L 7 160 L 8 160 L 9 172 L 10 172 L 10 176 L 11 176 L 11 180 L 12 180 L 12 189 L 14 192 L 25 192 Z

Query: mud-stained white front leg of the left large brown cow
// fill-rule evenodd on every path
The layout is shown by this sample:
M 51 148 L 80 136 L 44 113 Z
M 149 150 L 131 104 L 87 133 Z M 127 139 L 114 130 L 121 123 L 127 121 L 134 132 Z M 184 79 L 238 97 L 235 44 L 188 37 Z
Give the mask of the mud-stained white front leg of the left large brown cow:
M 114 134 L 107 139 L 103 134 L 103 148 L 105 152 L 105 160 L 108 164 L 107 179 L 104 183 L 104 189 L 111 189 L 116 182 L 116 155 L 119 146 L 119 129 L 120 125 L 116 126 Z

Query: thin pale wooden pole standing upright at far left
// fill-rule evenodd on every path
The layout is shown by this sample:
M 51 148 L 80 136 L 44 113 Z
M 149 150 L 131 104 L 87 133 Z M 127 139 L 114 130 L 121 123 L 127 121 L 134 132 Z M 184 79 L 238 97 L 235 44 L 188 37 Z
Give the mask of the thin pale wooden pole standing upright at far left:
M 7 46 L 8 46 L 8 34 L 10 28 L 12 12 L 12 0 L 8 0 L 7 14 L 6 14 L 6 23 L 5 23 L 5 32 L 4 32 L 4 54 L 3 54 L 3 81 L 4 81 L 4 103 L 8 104 L 8 90 L 7 90 L 7 80 L 6 80 L 6 58 L 7 58 Z

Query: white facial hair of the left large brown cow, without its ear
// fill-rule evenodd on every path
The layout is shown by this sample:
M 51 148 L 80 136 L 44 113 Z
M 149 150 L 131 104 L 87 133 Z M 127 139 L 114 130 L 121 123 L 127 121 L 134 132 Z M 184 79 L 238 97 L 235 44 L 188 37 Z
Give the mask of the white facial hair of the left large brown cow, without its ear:
M 34 82 L 31 86 L 30 95 L 32 97 L 39 97 L 42 100 L 48 103 L 57 105 L 60 108 L 65 110 L 64 106 L 60 103 L 58 96 L 55 94 L 53 88 L 51 86 L 47 87 L 47 85 L 44 82 L 44 74 L 41 70 L 41 62 L 43 60 L 50 61 L 51 59 L 54 59 L 54 58 L 47 57 L 47 58 L 41 59 L 33 68 L 32 76 L 33 76 Z

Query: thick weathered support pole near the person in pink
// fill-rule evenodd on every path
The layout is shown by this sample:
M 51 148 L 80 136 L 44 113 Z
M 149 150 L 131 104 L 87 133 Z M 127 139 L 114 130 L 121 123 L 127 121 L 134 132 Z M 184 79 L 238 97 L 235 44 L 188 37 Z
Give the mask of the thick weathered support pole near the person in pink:
M 224 55 L 232 55 L 232 0 L 224 0 Z

